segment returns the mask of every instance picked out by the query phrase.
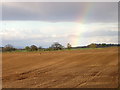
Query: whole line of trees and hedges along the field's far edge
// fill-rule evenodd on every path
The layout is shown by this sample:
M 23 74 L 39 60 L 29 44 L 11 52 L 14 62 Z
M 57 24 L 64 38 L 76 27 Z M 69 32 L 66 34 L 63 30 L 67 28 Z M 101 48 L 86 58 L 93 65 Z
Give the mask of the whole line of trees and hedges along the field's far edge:
M 70 43 L 67 44 L 67 47 L 64 47 L 62 44 L 55 42 L 53 43 L 49 48 L 42 48 L 37 47 L 36 45 L 31 45 L 31 46 L 26 46 L 23 49 L 17 49 L 14 48 L 12 45 L 8 44 L 5 45 L 4 47 L 0 48 L 0 51 L 2 52 L 6 52 L 6 51 L 16 51 L 16 50 L 24 50 L 24 51 L 54 51 L 54 50 L 63 50 L 63 49 L 78 49 L 78 48 L 104 48 L 104 47 L 113 47 L 113 46 L 120 46 L 120 44 L 106 44 L 106 43 L 102 43 L 102 44 L 96 44 L 96 43 L 92 43 L 90 45 L 87 46 L 82 46 L 82 47 L 72 47 Z

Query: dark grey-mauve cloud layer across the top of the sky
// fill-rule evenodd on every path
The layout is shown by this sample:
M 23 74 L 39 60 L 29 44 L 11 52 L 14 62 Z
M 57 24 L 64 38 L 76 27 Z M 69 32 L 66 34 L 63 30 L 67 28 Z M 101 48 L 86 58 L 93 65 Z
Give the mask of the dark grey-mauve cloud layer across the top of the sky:
M 116 2 L 19 2 L 3 3 L 3 20 L 116 22 Z

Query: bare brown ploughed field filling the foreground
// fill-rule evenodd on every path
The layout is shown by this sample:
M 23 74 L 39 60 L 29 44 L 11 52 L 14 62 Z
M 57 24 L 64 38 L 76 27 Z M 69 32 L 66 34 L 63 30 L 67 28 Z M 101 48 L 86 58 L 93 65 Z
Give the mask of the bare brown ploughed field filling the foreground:
M 3 88 L 116 88 L 118 48 L 2 54 Z

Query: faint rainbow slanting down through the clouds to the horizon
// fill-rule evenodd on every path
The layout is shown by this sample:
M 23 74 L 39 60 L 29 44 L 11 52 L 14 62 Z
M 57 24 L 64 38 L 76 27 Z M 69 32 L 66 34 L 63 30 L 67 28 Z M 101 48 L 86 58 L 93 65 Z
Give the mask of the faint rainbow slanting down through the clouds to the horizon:
M 82 15 L 80 15 L 81 17 L 78 17 L 76 19 L 76 22 L 79 22 L 80 24 L 85 24 L 86 18 L 89 16 L 92 8 L 93 8 L 93 3 L 87 3 L 86 7 L 84 8 L 84 10 L 82 12 Z M 81 30 L 82 30 L 82 28 L 80 27 L 79 24 L 77 24 L 73 30 L 75 32 L 76 36 L 70 38 L 70 42 L 71 42 L 72 46 L 79 46 L 80 45 L 80 39 L 82 37 Z

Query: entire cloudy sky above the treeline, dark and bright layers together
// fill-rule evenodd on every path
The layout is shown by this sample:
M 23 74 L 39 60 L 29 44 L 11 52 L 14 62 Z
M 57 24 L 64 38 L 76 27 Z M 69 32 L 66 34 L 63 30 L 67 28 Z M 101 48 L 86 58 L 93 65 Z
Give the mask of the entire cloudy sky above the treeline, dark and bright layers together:
M 4 2 L 1 45 L 118 43 L 117 2 Z

